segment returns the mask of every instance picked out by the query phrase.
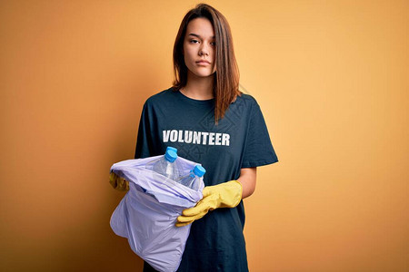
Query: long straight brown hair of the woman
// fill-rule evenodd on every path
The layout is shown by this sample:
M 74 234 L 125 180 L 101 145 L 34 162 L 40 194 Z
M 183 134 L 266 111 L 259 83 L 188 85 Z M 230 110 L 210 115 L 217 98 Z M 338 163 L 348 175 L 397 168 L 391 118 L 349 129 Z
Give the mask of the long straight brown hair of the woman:
M 231 102 L 234 102 L 239 91 L 239 70 L 234 56 L 233 38 L 230 26 L 224 15 L 214 7 L 206 4 L 196 5 L 182 20 L 176 35 L 174 46 L 174 90 L 180 90 L 187 83 L 187 67 L 183 54 L 187 24 L 195 18 L 206 18 L 214 27 L 215 37 L 215 73 L 214 73 L 214 121 L 224 117 Z

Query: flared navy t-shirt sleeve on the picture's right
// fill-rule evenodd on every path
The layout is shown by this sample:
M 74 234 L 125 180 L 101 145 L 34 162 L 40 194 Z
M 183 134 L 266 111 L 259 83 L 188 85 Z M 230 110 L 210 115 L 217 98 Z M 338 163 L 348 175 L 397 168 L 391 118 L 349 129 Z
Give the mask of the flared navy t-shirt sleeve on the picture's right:
M 244 146 L 242 168 L 258 167 L 277 161 L 263 113 L 254 101 Z

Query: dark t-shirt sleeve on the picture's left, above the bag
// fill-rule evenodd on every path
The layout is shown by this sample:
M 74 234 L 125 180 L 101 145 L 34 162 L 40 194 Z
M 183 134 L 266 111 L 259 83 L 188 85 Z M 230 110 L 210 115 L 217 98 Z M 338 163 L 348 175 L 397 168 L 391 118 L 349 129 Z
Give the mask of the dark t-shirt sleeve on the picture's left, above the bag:
M 138 136 L 136 139 L 135 159 L 151 157 L 154 149 L 152 137 L 150 136 L 151 123 L 149 118 L 150 112 L 147 102 L 141 114 L 139 121 Z

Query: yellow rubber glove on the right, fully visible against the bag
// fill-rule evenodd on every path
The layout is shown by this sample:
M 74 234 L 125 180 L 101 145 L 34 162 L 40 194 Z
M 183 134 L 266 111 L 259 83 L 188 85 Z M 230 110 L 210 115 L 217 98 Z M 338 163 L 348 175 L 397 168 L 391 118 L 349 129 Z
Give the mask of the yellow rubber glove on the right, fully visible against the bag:
M 194 208 L 185 209 L 177 218 L 176 227 L 183 227 L 201 219 L 209 210 L 234 208 L 242 200 L 242 184 L 237 180 L 207 186 L 203 189 L 203 199 Z

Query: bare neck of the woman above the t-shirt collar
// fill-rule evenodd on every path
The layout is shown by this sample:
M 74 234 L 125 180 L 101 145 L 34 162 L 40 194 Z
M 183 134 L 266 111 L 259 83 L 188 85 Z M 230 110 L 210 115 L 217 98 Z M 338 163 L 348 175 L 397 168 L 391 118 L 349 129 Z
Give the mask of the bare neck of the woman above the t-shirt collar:
M 214 98 L 213 94 L 214 75 L 198 77 L 194 73 L 187 74 L 187 83 L 180 92 L 195 100 L 209 100 Z

